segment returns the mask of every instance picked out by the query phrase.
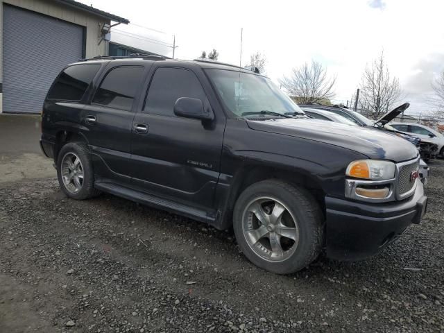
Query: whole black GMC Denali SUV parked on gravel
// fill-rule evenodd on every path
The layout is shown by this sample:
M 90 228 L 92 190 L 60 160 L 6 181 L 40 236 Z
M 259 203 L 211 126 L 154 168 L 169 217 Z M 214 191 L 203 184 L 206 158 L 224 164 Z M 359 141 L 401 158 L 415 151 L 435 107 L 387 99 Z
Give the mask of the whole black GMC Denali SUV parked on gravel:
M 427 198 L 400 137 L 309 119 L 271 80 L 204 60 L 99 58 L 67 66 L 41 146 L 69 198 L 101 191 L 234 228 L 275 273 L 377 253 Z

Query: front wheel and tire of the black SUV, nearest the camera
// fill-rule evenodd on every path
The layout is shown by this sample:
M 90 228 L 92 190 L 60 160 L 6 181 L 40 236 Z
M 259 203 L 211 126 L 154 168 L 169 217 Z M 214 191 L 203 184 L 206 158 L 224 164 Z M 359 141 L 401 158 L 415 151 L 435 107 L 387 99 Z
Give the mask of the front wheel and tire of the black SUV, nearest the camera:
M 309 191 L 281 180 L 250 185 L 233 212 L 239 248 L 250 262 L 277 274 L 300 271 L 318 257 L 323 221 L 321 208 Z

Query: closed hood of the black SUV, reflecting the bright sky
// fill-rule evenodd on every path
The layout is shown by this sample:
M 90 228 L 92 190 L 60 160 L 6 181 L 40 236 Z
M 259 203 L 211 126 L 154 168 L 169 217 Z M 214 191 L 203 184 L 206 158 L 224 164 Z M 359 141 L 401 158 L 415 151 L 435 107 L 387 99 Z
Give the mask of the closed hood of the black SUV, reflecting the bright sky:
M 418 149 L 407 140 L 376 128 L 349 126 L 318 119 L 247 120 L 247 123 L 252 130 L 333 144 L 373 159 L 402 162 L 418 155 Z

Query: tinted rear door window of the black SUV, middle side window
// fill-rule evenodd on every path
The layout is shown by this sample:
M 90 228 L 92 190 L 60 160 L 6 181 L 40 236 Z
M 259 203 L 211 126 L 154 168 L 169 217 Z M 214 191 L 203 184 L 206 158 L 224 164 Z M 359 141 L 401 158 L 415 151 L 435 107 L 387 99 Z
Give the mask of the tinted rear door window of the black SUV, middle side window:
M 108 71 L 92 103 L 130 111 L 144 67 L 115 67 Z

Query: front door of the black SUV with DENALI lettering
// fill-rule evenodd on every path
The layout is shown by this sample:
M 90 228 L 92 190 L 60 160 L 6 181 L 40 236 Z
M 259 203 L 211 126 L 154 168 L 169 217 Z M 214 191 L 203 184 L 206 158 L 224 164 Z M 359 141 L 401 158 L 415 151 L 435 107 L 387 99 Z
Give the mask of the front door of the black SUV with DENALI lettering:
M 146 101 L 133 123 L 133 183 L 157 196 L 175 198 L 195 207 L 211 208 L 219 178 L 225 117 L 212 123 L 176 117 L 180 97 L 203 101 L 211 109 L 201 80 L 191 69 L 153 69 Z M 214 112 L 214 110 L 213 110 Z

